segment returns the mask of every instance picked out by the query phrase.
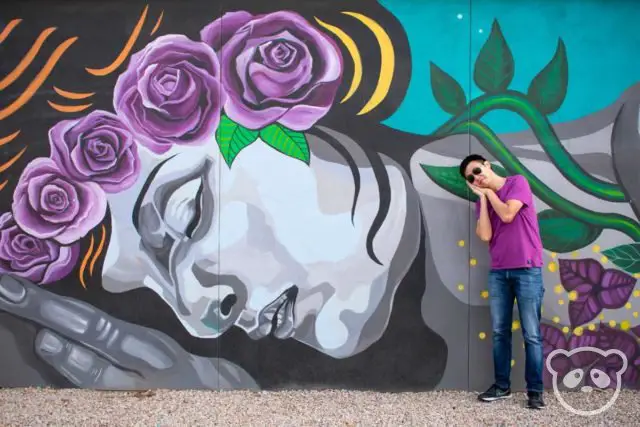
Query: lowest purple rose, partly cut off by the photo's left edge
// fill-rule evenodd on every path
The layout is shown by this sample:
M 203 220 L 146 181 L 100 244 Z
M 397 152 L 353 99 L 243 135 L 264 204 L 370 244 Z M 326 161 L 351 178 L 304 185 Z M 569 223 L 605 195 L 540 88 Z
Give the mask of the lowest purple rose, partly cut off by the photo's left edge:
M 24 277 L 47 284 L 71 273 L 78 261 L 80 246 L 60 246 L 53 240 L 40 240 L 18 227 L 13 215 L 0 216 L 0 273 Z

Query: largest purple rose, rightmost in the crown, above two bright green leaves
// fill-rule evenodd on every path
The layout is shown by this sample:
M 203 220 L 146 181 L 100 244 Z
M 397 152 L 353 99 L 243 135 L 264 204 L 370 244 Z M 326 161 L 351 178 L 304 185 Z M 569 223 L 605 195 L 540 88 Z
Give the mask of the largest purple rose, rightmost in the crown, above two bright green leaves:
M 278 122 L 306 130 L 333 104 L 342 56 L 302 16 L 230 12 L 204 27 L 200 37 L 220 52 L 224 109 L 233 121 L 250 129 Z

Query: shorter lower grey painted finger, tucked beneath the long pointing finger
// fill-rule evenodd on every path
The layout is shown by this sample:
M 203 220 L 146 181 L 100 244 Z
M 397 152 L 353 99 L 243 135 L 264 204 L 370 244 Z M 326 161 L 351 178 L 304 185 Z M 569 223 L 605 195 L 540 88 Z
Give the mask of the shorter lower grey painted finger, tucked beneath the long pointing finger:
M 36 354 L 79 388 L 130 390 L 143 387 L 144 379 L 125 371 L 95 352 L 47 329 L 36 336 Z

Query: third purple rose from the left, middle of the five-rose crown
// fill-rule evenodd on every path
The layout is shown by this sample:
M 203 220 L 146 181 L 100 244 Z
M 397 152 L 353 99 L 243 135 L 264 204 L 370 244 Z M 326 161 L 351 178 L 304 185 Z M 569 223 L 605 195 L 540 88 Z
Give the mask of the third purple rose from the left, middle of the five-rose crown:
M 115 114 L 97 110 L 63 120 L 49 131 L 49 144 L 51 158 L 70 177 L 93 181 L 108 193 L 125 190 L 138 178 L 137 145 Z

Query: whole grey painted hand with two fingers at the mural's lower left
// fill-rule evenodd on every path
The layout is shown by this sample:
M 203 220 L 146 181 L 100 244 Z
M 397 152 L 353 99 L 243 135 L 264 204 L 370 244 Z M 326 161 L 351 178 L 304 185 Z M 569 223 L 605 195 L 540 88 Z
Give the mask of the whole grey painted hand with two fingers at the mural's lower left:
M 35 322 L 35 352 L 80 388 L 258 388 L 242 368 L 194 356 L 167 335 L 27 280 L 0 277 L 0 311 Z

